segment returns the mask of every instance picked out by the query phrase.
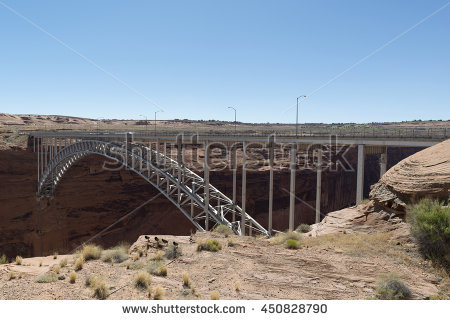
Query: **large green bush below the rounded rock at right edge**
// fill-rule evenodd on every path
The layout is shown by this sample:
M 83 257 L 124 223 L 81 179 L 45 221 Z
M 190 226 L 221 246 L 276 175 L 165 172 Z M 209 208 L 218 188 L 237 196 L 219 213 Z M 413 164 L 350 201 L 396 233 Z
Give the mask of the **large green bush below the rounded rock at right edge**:
M 415 206 L 408 208 L 407 218 L 423 256 L 448 264 L 450 208 L 442 207 L 437 201 L 422 199 Z

